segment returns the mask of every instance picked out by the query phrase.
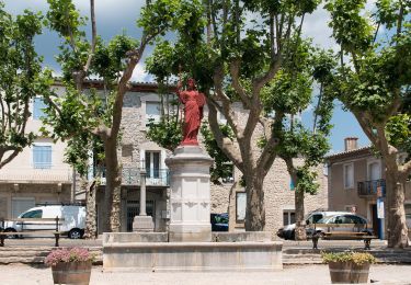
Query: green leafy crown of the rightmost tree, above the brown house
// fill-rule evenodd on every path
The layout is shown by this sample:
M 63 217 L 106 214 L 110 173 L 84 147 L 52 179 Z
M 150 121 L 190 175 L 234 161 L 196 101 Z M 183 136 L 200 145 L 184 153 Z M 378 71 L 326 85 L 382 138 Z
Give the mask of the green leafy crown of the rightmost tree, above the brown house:
M 401 150 L 411 149 L 407 111 L 411 87 L 409 1 L 378 0 L 372 19 L 364 11 L 363 0 L 328 2 L 333 36 L 353 68 L 343 65 L 335 69 L 336 75 L 327 84 L 347 110 L 366 121 L 363 128 L 368 134 L 383 125 L 389 144 Z M 373 36 L 378 32 L 372 27 L 374 23 L 390 33 Z

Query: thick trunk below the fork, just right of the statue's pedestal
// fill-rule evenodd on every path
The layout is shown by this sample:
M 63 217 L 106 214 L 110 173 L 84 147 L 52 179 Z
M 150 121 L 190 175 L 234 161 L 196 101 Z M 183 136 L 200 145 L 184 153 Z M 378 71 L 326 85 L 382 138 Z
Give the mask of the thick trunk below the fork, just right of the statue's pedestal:
M 254 173 L 253 173 L 254 174 Z M 265 227 L 263 182 L 265 175 L 255 173 L 246 176 L 247 209 L 246 230 L 262 231 Z

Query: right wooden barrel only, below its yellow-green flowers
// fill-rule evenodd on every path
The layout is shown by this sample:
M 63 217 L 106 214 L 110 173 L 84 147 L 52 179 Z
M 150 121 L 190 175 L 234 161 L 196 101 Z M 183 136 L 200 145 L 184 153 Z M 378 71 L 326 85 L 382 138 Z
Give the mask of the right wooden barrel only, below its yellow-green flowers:
M 352 261 L 330 261 L 331 283 L 367 283 L 369 273 L 369 262 L 355 264 Z

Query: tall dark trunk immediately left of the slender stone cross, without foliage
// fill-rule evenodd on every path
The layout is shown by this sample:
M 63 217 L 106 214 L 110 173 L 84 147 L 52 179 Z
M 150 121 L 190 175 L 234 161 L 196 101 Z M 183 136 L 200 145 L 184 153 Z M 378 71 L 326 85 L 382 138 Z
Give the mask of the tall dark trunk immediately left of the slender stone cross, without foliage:
M 121 225 L 121 190 L 122 168 L 117 159 L 117 138 L 104 141 L 106 184 L 104 192 L 105 229 L 113 232 L 119 231 Z

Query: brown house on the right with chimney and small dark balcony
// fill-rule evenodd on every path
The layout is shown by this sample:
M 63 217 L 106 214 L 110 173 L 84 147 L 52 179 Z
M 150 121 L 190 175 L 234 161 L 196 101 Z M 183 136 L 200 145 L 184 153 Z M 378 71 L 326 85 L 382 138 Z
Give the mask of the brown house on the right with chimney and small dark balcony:
M 407 153 L 398 159 L 403 161 Z M 375 235 L 385 237 L 385 164 L 372 147 L 357 147 L 357 138 L 345 138 L 345 150 L 327 157 L 329 208 L 351 210 L 370 223 Z M 406 215 L 411 227 L 411 182 L 406 183 Z

